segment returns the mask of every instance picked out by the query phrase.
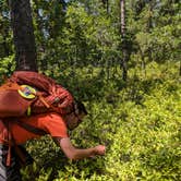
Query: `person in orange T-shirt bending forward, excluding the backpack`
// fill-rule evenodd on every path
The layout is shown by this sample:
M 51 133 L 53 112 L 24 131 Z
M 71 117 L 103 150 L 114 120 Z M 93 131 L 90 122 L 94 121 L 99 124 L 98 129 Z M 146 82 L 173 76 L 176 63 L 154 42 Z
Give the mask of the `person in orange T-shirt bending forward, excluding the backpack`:
M 50 134 L 57 145 L 60 146 L 64 155 L 71 160 L 77 160 L 96 155 L 105 155 L 106 147 L 97 145 L 90 148 L 76 148 L 71 143 L 68 130 L 74 130 L 87 114 L 84 105 L 80 101 L 75 102 L 72 112 L 61 116 L 55 112 L 46 112 L 31 117 L 10 118 L 0 120 L 0 181 L 20 181 L 20 165 L 17 154 L 14 153 L 14 145 L 22 145 L 32 138 L 39 138 L 40 135 Z M 12 119 L 12 120 L 11 120 Z M 4 125 L 5 124 L 5 125 Z M 8 125 L 7 125 L 8 124 Z M 40 132 L 40 134 L 39 134 Z M 7 143 L 13 140 L 11 152 L 11 164 L 8 164 L 9 148 Z M 9 141 L 8 141 L 9 138 Z M 8 166 L 9 165 L 9 166 Z

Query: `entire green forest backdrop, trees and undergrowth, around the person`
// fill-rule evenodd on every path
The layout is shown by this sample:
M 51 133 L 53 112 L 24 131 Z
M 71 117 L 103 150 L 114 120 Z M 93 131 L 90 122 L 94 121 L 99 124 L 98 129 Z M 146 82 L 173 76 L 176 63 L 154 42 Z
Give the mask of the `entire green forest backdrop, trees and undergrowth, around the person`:
M 107 154 L 71 162 L 50 137 L 31 141 L 35 162 L 22 169 L 23 180 L 181 179 L 180 2 L 123 2 L 124 32 L 119 0 L 31 1 L 39 72 L 89 112 L 72 142 L 106 144 Z M 0 0 L 1 83 L 15 70 L 10 22 L 8 1 Z

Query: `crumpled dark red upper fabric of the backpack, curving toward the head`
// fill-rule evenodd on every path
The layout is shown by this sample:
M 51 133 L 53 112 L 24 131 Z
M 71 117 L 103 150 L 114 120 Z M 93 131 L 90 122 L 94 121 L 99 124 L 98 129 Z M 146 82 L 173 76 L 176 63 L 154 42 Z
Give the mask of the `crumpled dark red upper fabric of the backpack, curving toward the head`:
M 43 95 L 45 101 L 50 107 L 46 107 L 45 104 L 37 98 L 31 106 L 32 112 L 34 113 L 56 111 L 60 114 L 65 114 L 73 110 L 74 98 L 71 93 L 44 74 L 28 71 L 16 71 L 9 81 L 17 83 L 19 85 L 26 84 L 33 86 Z

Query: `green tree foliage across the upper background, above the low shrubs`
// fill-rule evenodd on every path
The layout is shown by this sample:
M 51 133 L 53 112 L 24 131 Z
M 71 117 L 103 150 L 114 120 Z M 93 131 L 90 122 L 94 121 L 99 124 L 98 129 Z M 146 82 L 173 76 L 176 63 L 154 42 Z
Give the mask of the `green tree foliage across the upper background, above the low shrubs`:
M 59 73 L 68 67 L 72 71 L 85 65 L 109 70 L 121 64 L 119 0 L 109 0 L 107 9 L 100 0 L 65 2 L 32 1 L 39 70 L 53 76 L 55 71 Z M 7 1 L 0 4 L 0 59 L 3 59 L 13 55 L 13 46 L 9 8 Z M 125 5 L 129 67 L 179 61 L 179 1 L 131 0 Z

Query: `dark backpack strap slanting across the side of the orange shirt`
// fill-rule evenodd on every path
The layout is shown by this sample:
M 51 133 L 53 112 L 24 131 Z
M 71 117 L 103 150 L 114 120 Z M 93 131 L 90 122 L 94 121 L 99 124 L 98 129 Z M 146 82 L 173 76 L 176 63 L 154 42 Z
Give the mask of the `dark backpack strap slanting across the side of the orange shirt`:
M 39 129 L 39 128 L 36 128 L 34 125 L 31 125 L 31 124 L 27 124 L 23 121 L 19 121 L 19 120 L 12 120 L 12 122 L 15 122 L 17 125 L 20 125 L 21 128 L 25 129 L 26 131 L 28 132 L 32 132 L 34 134 L 37 134 L 37 135 L 45 135 L 47 134 L 46 131 Z

